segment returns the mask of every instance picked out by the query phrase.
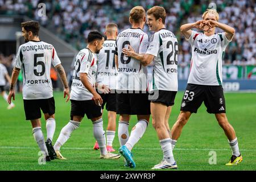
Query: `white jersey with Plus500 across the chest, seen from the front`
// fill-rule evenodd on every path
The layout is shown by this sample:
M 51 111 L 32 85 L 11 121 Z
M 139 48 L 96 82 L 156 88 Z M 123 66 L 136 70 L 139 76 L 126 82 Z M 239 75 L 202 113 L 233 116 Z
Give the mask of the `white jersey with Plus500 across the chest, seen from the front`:
M 188 84 L 222 85 L 222 54 L 232 39 L 225 32 L 206 36 L 192 31 L 187 40 L 192 47 Z

